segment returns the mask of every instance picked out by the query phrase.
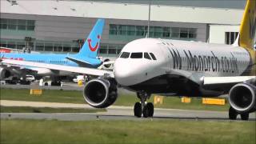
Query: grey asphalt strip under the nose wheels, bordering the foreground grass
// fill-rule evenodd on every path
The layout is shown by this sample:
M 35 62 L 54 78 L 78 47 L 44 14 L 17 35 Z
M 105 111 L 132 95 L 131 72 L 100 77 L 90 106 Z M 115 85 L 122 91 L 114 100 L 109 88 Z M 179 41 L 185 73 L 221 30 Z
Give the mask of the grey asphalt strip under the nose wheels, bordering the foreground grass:
M 1 119 L 26 118 L 50 119 L 60 121 L 87 121 L 87 120 L 148 120 L 148 119 L 189 119 L 189 120 L 223 120 L 228 119 L 227 112 L 205 110 L 174 110 L 155 109 L 154 118 L 135 118 L 132 107 L 110 107 L 106 112 L 98 113 L 1 113 Z M 238 116 L 238 120 L 240 117 Z M 256 121 L 256 114 L 250 114 L 250 121 Z

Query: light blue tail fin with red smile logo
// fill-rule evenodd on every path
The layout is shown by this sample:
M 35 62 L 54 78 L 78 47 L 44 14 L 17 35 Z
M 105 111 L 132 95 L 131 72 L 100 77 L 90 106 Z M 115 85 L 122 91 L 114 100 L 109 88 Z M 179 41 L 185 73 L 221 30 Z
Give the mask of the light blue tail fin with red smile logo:
M 90 31 L 90 34 L 84 42 L 81 50 L 77 56 L 84 58 L 96 58 L 98 54 L 99 44 L 102 38 L 102 31 L 105 25 L 105 20 L 100 18 L 94 25 L 94 28 Z

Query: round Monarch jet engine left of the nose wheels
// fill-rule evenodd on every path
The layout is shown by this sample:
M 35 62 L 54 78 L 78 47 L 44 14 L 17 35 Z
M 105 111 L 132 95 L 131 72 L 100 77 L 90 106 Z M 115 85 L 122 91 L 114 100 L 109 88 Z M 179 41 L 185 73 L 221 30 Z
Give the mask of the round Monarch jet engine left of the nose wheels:
M 114 79 L 92 79 L 86 83 L 83 97 L 90 106 L 106 108 L 118 98 L 117 84 Z

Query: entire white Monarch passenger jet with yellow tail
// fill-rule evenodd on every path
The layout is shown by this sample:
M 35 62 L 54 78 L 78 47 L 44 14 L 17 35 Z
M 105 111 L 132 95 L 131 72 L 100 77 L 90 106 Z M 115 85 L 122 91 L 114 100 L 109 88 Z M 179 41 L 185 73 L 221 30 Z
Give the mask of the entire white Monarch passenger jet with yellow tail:
M 146 102 L 151 94 L 189 97 L 217 97 L 229 94 L 229 118 L 241 114 L 248 120 L 256 110 L 254 35 L 256 2 L 247 1 L 240 35 L 233 46 L 142 38 L 123 47 L 114 62 L 114 72 L 36 62 L 5 60 L 9 64 L 38 66 L 81 74 L 98 75 L 86 83 L 83 96 L 96 108 L 112 105 L 117 87 L 137 92 L 140 102 L 134 116 L 152 117 L 154 106 Z

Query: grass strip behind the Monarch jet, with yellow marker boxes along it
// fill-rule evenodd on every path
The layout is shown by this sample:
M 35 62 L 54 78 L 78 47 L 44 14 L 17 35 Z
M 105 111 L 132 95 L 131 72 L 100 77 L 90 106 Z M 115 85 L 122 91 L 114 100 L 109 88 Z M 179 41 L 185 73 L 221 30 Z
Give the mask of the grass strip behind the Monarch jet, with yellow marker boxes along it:
M 30 90 L 26 89 L 1 89 L 1 99 L 4 100 L 19 100 L 19 101 L 35 101 L 35 102 L 68 102 L 68 103 L 85 103 L 82 97 L 82 91 L 77 90 L 43 90 L 42 95 L 30 95 Z M 135 94 L 120 93 L 115 106 L 134 106 L 138 102 Z M 151 97 L 148 102 L 154 102 L 154 97 Z M 193 98 L 191 103 L 182 103 L 181 98 L 166 97 L 162 105 L 155 105 L 160 108 L 171 109 L 186 109 L 186 110 L 217 110 L 226 111 L 230 105 L 225 106 L 202 105 L 201 98 Z

